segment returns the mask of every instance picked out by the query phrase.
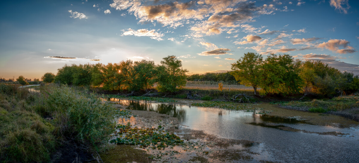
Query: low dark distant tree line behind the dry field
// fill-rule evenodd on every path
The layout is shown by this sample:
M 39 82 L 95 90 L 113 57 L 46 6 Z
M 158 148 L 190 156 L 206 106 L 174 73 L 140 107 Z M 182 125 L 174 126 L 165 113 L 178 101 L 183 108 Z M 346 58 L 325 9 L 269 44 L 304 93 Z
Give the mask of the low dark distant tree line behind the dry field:
M 193 74 L 187 76 L 187 81 L 215 81 L 215 82 L 230 82 L 237 83 L 236 78 L 228 72 L 214 73 L 208 72 L 205 74 Z

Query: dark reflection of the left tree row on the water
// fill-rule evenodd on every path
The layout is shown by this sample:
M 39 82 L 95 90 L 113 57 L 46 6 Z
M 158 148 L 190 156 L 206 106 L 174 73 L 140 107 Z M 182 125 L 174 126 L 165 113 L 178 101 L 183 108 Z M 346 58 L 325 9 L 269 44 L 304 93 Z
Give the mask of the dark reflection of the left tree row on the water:
M 129 107 L 127 107 L 127 109 L 155 111 L 160 114 L 167 114 L 176 117 L 180 121 L 184 121 L 186 119 L 186 110 L 183 110 L 181 105 L 179 106 L 180 108 L 177 108 L 174 104 L 157 104 L 156 106 L 153 106 L 151 102 L 139 102 L 133 100 L 129 100 L 128 104 Z

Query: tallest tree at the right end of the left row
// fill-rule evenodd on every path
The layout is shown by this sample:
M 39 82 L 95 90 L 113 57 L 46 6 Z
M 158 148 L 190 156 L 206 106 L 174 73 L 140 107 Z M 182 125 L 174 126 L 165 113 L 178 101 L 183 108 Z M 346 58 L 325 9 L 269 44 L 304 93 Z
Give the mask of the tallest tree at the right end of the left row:
M 157 66 L 157 89 L 160 92 L 174 92 L 186 85 L 186 72 L 183 69 L 182 61 L 176 56 L 163 58 L 161 66 Z

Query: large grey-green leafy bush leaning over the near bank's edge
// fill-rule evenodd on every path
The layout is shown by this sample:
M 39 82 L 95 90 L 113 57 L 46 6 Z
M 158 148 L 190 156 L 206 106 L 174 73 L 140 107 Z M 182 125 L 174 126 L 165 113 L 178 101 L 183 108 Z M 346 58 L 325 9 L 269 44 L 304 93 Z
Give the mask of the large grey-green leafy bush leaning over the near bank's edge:
M 66 86 L 48 86 L 41 92 L 46 111 L 54 117 L 56 135 L 95 144 L 112 133 L 115 109 L 94 94 Z

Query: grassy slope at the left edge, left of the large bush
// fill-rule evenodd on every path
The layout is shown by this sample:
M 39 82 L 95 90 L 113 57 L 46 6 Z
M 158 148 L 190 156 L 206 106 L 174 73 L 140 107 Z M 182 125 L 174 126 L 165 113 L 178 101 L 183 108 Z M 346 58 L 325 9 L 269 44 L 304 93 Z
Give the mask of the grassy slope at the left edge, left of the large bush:
M 47 162 L 55 149 L 53 126 L 33 110 L 26 88 L 0 84 L 1 162 Z

